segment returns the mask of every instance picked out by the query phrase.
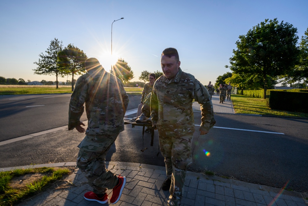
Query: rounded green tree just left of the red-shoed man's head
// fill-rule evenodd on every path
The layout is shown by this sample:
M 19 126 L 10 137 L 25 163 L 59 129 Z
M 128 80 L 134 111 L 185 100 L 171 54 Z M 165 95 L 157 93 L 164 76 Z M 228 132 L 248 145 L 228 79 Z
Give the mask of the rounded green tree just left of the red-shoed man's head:
M 72 75 L 72 82 L 74 82 L 74 75 L 81 75 L 86 72 L 84 62 L 87 60 L 87 55 L 73 44 L 68 44 L 60 51 L 58 59 L 65 74 Z M 72 91 L 74 91 L 74 84 L 72 84 Z

